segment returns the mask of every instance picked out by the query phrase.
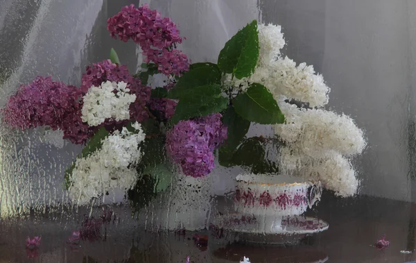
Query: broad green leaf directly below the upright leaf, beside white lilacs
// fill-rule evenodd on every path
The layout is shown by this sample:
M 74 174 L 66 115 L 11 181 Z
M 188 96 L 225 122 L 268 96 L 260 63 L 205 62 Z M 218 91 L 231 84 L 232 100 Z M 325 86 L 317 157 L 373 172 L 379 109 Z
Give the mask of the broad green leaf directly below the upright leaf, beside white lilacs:
M 284 115 L 272 94 L 261 84 L 253 83 L 232 101 L 234 110 L 244 119 L 258 124 L 283 124 Z

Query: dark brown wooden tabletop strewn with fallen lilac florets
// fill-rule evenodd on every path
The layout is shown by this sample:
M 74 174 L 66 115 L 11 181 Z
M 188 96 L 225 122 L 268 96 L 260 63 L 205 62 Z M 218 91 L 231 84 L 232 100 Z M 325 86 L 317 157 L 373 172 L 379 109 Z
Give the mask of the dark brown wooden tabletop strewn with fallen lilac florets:
M 237 242 L 220 244 L 209 238 L 198 246 L 192 237 L 175 233 L 151 233 L 136 226 L 128 207 L 118 207 L 121 223 L 102 230 L 100 241 L 83 241 L 80 246 L 66 243 L 79 222 L 70 214 L 54 217 L 33 214 L 26 219 L 0 223 L 0 263 L 3 262 L 239 262 L 244 256 L 252 263 L 297 262 L 416 262 L 416 205 L 383 198 L 360 196 L 336 198 L 324 192 L 322 201 L 306 212 L 329 223 L 329 230 L 302 239 L 296 246 L 268 246 Z M 84 211 L 87 212 L 87 211 Z M 78 211 L 82 214 L 83 211 Z M 124 219 L 123 219 L 124 217 Z M 25 239 L 42 235 L 38 257 L 28 259 Z M 207 235 L 201 231 L 198 235 Z M 380 251 L 374 245 L 383 235 L 390 247 Z M 400 251 L 412 251 L 402 254 Z

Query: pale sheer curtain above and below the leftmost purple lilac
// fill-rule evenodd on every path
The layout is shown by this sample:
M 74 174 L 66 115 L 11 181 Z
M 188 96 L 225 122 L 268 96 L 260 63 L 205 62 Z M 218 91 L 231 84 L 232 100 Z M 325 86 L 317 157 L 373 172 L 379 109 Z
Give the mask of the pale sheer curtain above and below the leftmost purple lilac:
M 107 17 L 105 5 L 102 0 L 0 0 L 0 106 L 20 83 L 38 75 L 79 85 L 88 47 L 96 41 L 91 34 L 99 15 Z M 62 178 L 80 147 L 63 144 L 59 136 L 0 127 L 2 216 L 67 202 Z

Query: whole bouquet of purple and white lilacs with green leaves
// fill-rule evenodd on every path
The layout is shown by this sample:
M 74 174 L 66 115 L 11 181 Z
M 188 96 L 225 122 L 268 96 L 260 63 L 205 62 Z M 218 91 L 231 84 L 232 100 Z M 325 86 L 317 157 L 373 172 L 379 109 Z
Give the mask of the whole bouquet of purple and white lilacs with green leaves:
M 87 67 L 80 87 L 38 76 L 19 87 L 2 110 L 12 128 L 49 126 L 84 145 L 64 175 L 74 203 L 87 204 L 122 189 L 135 207 L 142 207 L 166 189 L 168 176 L 207 176 L 216 158 L 220 165 L 239 165 L 251 173 L 304 168 L 291 167 L 293 158 L 267 158 L 270 140 L 246 137 L 252 123 L 276 125 L 276 138 L 291 150 L 282 150 L 282 156 L 315 155 L 302 152 L 300 142 L 314 136 L 301 136 L 302 117 L 328 102 L 329 88 L 313 67 L 281 57 L 285 42 L 280 26 L 254 20 L 225 44 L 216 64 L 191 64 L 177 49 L 183 38 L 176 24 L 147 5 L 125 6 L 108 19 L 107 29 L 112 37 L 141 47 L 144 63 L 137 74 L 112 49 L 109 60 Z M 165 79 L 163 87 L 149 86 L 149 77 L 156 74 Z M 313 108 L 293 108 L 293 100 Z M 286 120 L 280 108 L 287 112 Z M 317 126 L 312 128 L 331 138 L 318 136 L 331 143 L 328 149 L 336 151 L 334 145 L 342 141 L 340 147 L 345 145 L 349 155 L 361 153 L 365 141 L 352 119 L 333 114 L 325 122 L 319 113 L 311 113 Z M 331 128 L 333 119 L 338 119 L 336 129 Z M 303 121 L 311 128 L 311 121 Z M 325 179 L 320 173 L 309 175 Z M 327 185 L 340 192 L 339 184 L 328 180 Z

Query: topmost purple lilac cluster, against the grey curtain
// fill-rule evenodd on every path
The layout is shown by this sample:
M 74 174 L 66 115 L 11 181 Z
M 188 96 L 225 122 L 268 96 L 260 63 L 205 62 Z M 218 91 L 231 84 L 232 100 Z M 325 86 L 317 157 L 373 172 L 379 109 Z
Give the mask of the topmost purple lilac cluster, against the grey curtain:
M 107 29 L 112 37 L 127 42 L 132 39 L 141 46 L 145 62 L 155 62 L 163 74 L 180 76 L 189 70 L 187 56 L 178 51 L 182 37 L 176 24 L 169 17 L 161 17 L 157 10 L 145 4 L 125 6 L 121 12 L 107 20 Z

